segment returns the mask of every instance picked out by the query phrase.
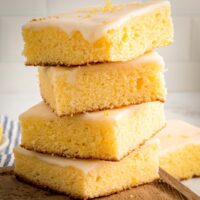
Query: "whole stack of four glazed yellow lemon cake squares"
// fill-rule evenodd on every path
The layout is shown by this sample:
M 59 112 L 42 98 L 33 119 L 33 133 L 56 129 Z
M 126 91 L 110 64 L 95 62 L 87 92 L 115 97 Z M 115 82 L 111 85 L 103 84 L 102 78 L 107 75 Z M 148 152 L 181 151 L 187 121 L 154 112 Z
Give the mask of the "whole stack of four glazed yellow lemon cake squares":
M 168 1 L 97 6 L 23 27 L 41 102 L 20 116 L 18 178 L 74 198 L 109 195 L 159 178 L 165 126 Z

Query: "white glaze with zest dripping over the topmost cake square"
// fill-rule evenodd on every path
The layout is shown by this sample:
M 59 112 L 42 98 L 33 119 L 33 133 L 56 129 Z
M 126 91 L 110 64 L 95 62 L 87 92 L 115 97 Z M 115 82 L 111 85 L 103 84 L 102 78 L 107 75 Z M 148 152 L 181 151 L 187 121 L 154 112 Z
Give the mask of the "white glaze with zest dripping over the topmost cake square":
M 119 27 L 131 17 L 144 15 L 169 5 L 168 1 L 154 0 L 143 3 L 132 2 L 129 4 L 106 5 L 104 7 L 90 7 L 32 20 L 23 28 L 55 26 L 66 31 L 69 35 L 74 31 L 80 31 L 85 40 L 95 42 L 107 31 Z

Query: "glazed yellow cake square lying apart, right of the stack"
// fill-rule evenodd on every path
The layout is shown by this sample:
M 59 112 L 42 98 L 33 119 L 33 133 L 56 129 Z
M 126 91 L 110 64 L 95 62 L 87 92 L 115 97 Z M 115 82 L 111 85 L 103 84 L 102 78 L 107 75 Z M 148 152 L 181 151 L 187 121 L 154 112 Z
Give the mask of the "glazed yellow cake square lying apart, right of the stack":
M 200 128 L 170 120 L 159 133 L 160 166 L 177 179 L 200 176 Z

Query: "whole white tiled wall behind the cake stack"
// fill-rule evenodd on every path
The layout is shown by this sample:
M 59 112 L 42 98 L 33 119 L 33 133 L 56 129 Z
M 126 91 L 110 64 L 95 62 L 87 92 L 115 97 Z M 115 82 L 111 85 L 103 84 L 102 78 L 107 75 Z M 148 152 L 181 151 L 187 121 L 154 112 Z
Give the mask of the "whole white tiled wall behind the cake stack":
M 130 1 L 133 0 L 112 0 L 113 3 Z M 34 17 L 103 3 L 103 0 L 0 0 L 0 93 L 38 91 L 35 69 L 22 67 L 21 27 L 25 22 Z M 200 91 L 200 0 L 171 0 L 171 3 L 174 44 L 158 50 L 169 69 L 166 73 L 168 90 Z

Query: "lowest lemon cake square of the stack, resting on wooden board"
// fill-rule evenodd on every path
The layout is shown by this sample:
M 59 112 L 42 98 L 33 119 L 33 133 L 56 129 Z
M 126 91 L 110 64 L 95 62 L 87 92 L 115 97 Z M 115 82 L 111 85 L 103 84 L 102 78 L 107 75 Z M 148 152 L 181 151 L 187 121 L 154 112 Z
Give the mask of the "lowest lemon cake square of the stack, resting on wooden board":
M 17 147 L 15 174 L 75 198 L 109 195 L 159 177 L 159 141 L 153 139 L 119 162 L 67 159 Z

